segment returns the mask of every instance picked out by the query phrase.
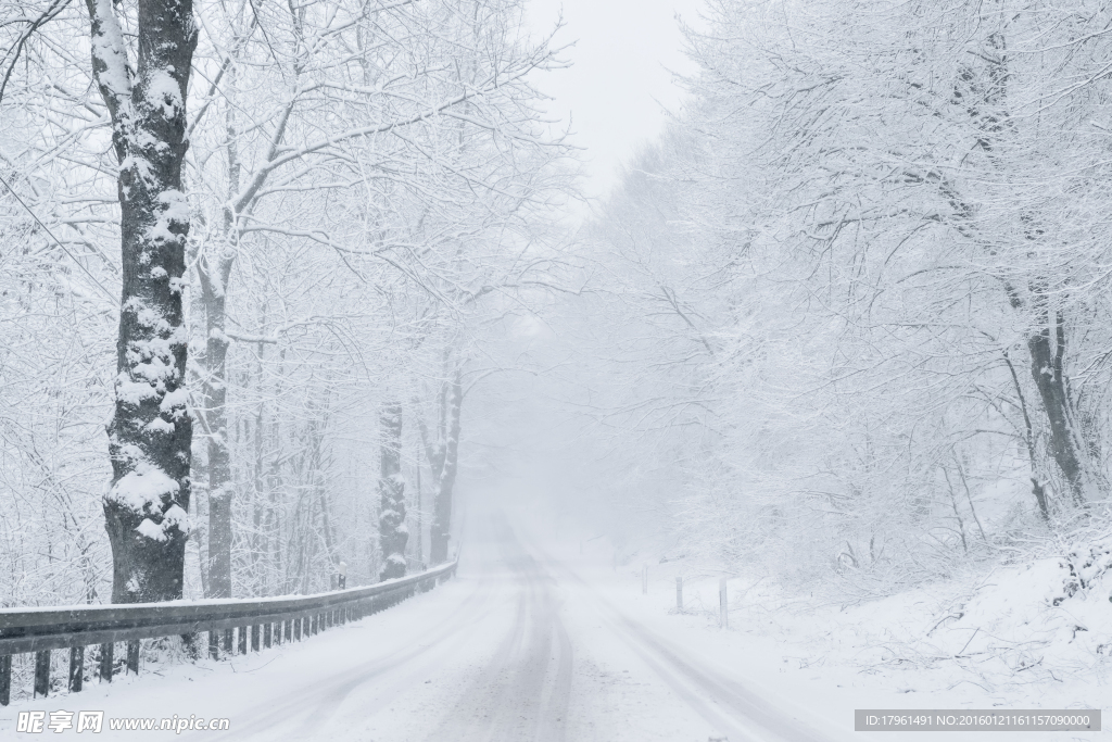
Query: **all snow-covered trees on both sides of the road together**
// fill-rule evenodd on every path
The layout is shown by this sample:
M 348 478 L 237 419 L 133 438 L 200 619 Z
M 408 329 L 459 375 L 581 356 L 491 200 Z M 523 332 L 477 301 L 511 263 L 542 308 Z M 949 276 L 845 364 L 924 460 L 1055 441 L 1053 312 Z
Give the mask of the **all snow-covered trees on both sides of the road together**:
M 708 0 L 572 240 L 523 0 L 0 12 L 4 605 L 445 561 L 475 390 L 617 542 L 786 584 L 1108 534 L 1105 3 Z

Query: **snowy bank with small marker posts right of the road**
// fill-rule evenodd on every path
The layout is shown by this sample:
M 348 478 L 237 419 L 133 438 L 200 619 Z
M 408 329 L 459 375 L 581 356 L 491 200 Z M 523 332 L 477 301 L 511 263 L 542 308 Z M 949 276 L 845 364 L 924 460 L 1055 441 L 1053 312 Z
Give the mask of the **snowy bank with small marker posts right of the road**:
M 540 543 L 638 623 L 845 739 L 861 738 L 853 732 L 854 709 L 1102 709 L 1109 698 L 1108 550 L 1074 554 L 1074 573 L 1065 558 L 1046 558 L 844 609 L 787 600 L 765 581 L 732 576 L 723 631 L 721 572 L 685 558 L 622 554 L 605 538 Z M 642 594 L 646 564 L 648 592 Z M 677 576 L 684 578 L 682 612 Z M 914 739 L 985 734 L 920 732 Z M 1095 740 L 1112 732 L 989 736 Z

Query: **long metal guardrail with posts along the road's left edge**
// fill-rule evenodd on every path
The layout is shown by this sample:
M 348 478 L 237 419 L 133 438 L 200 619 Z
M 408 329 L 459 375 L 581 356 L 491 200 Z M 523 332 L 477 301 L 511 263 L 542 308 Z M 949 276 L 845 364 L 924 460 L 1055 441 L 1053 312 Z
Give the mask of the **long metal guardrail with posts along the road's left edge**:
M 427 592 L 454 575 L 457 563 L 369 587 L 299 597 L 3 609 L 0 610 L 0 705 L 6 706 L 11 700 L 11 660 L 16 654 L 34 653 L 33 693 L 47 695 L 50 653 L 68 649 L 69 690 L 76 692 L 83 683 L 86 646 L 100 646 L 99 675 L 108 682 L 112 680 L 117 642 L 127 643 L 127 670 L 135 673 L 139 672 L 142 639 L 196 636 L 207 632 L 209 656 L 216 660 L 221 651 L 226 656 L 246 654 L 250 634 L 251 651 L 258 652 L 260 640 L 264 649 L 300 641 L 390 607 L 415 593 Z

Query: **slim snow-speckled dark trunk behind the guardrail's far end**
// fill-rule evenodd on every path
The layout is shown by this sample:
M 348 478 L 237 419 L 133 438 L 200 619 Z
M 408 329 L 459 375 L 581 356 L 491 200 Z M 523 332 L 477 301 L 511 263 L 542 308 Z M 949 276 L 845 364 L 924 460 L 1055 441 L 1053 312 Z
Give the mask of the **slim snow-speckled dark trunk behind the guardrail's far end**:
M 383 409 L 381 465 L 378 474 L 378 537 L 383 548 L 379 580 L 406 574 L 406 485 L 401 478 L 401 405 Z

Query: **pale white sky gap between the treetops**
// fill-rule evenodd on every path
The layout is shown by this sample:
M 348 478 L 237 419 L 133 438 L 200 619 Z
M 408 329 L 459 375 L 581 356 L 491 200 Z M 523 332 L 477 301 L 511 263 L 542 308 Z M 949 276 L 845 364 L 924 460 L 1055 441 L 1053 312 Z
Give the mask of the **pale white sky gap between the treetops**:
M 556 46 L 567 70 L 546 75 L 540 89 L 555 98 L 549 112 L 572 116 L 573 144 L 585 148 L 588 196 L 615 185 L 616 168 L 651 141 L 665 121 L 662 106 L 677 110 L 682 92 L 669 70 L 691 71 L 676 14 L 698 24 L 699 0 L 528 0 L 535 33 L 550 31 L 564 12 Z

